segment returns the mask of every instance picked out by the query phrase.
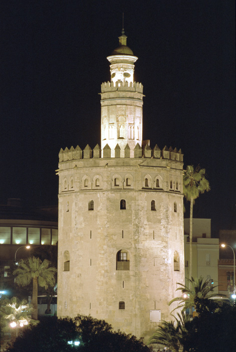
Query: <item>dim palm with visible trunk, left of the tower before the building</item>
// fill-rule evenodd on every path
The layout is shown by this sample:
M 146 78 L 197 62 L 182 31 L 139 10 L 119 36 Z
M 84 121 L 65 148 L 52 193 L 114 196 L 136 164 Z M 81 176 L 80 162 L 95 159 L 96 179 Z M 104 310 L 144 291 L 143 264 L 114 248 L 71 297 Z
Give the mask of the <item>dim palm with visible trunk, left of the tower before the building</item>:
M 32 305 L 34 312 L 32 317 L 36 320 L 38 319 L 38 285 L 47 289 L 48 286 L 54 286 L 55 284 L 57 269 L 49 268 L 50 263 L 47 259 L 42 261 L 40 258 L 33 256 L 21 259 L 18 268 L 13 272 L 14 275 L 17 275 L 15 281 L 20 286 L 27 286 L 33 281 Z

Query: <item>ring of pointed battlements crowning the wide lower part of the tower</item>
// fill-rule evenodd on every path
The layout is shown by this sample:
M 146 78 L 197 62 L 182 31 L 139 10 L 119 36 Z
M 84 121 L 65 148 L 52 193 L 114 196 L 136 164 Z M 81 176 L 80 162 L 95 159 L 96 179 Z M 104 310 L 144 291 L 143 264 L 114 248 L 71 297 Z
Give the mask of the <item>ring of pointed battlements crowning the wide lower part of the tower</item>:
M 121 156 L 121 148 L 119 144 L 115 147 L 115 158 L 120 158 Z M 111 157 L 111 148 L 108 144 L 103 148 L 103 158 Z M 130 147 L 126 144 L 124 148 L 124 157 L 130 157 Z M 75 159 L 91 159 L 91 158 L 102 158 L 102 149 L 97 144 L 94 149 L 92 149 L 88 144 L 82 150 L 78 145 L 76 148 L 71 146 L 70 149 L 67 147 L 65 150 L 61 148 L 59 152 L 59 162 L 75 160 Z M 134 158 L 153 158 L 153 159 L 169 159 L 183 162 L 183 154 L 181 149 L 177 150 L 177 148 L 172 148 L 165 146 L 162 150 L 156 144 L 153 149 L 149 145 L 145 145 L 141 147 L 139 143 L 136 144 L 134 148 Z

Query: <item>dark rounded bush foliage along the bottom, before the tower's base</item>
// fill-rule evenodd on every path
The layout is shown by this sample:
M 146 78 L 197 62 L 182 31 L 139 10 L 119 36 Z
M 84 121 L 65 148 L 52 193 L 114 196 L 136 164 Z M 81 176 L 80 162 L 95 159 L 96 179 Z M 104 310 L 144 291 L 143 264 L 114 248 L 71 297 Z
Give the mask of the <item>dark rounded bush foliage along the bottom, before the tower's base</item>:
M 68 341 L 80 341 L 79 346 Z M 7 352 L 148 352 L 150 349 L 133 335 L 114 331 L 104 320 L 78 315 L 59 319 L 45 316 L 18 337 Z

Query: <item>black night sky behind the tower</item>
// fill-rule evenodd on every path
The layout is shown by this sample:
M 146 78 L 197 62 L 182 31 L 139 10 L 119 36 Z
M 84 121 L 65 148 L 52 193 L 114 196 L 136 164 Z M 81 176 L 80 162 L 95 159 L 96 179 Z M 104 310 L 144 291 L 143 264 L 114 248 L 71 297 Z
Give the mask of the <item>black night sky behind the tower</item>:
M 2 1 L 0 203 L 57 204 L 60 148 L 100 144 L 100 84 L 127 45 L 144 86 L 143 139 L 181 148 L 211 191 L 194 216 L 230 228 L 236 204 L 234 0 Z M 236 214 L 234 217 L 236 228 Z

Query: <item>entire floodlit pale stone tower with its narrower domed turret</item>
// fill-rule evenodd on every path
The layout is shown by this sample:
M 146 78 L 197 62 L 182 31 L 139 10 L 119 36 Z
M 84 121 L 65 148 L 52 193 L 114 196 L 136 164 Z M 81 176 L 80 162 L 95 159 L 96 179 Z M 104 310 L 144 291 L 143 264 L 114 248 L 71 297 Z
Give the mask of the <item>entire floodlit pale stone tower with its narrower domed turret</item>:
M 184 283 L 183 158 L 142 142 L 143 86 L 126 38 L 107 58 L 101 147 L 59 154 L 58 315 L 90 314 L 147 339 Z

